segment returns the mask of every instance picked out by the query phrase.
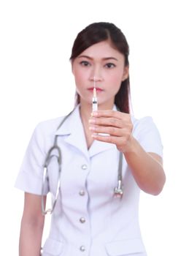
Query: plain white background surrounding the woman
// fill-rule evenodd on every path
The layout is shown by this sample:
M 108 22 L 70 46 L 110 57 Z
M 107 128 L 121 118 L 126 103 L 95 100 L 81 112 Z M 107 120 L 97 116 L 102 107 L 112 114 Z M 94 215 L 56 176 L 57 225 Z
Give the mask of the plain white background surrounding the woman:
M 1 250 L 18 255 L 23 192 L 14 188 L 39 121 L 74 104 L 69 63 L 77 33 L 115 23 L 130 45 L 136 118 L 153 116 L 164 146 L 166 186 L 142 193 L 140 223 L 149 256 L 189 255 L 188 1 L 9 1 L 0 3 Z M 2 253 L 1 253 L 2 254 Z

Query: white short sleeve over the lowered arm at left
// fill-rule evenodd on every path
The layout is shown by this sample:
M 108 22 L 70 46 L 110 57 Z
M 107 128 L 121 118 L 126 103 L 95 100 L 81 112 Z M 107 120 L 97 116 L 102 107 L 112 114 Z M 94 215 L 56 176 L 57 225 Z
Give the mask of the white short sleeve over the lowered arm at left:
M 31 194 L 41 195 L 44 162 L 45 139 L 42 127 L 38 124 L 28 143 L 26 154 L 15 182 L 15 187 Z M 45 194 L 47 194 L 47 192 L 47 184 L 45 184 Z

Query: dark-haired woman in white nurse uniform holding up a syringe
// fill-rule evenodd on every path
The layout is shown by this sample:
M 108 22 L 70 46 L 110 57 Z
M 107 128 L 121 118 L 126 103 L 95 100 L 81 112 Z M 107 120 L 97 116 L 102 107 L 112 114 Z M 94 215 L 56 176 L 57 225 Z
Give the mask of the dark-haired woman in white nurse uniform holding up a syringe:
M 76 105 L 61 118 L 36 126 L 16 187 L 25 192 L 20 256 L 39 256 L 45 217 L 43 166 L 57 136 L 61 187 L 42 255 L 146 256 L 139 229 L 139 192 L 158 195 L 165 183 L 162 144 L 150 117 L 130 113 L 128 43 L 112 23 L 92 23 L 72 48 Z M 91 110 L 93 86 L 98 110 Z M 106 136 L 104 134 L 107 134 Z M 120 153 L 123 195 L 115 197 Z M 58 166 L 52 159 L 44 194 L 55 196 Z

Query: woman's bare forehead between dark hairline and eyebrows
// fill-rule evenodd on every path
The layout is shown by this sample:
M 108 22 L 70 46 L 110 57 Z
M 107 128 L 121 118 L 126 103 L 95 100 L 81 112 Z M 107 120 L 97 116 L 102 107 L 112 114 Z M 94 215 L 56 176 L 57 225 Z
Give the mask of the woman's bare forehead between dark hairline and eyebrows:
M 90 58 L 104 59 L 114 57 L 117 59 L 124 59 L 122 53 L 114 48 L 109 41 L 98 42 L 85 49 L 79 56 L 89 56 Z M 78 56 L 78 57 L 79 57 Z

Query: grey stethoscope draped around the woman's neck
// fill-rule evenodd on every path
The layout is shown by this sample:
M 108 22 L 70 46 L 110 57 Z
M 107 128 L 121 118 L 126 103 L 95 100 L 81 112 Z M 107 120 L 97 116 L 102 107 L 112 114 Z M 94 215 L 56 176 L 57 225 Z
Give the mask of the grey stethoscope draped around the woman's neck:
M 72 110 L 73 112 L 74 110 Z M 57 130 L 63 125 L 64 121 L 66 121 L 66 118 L 68 118 L 72 112 L 70 112 L 67 116 L 63 118 L 61 123 L 58 125 Z M 57 154 L 55 154 L 55 151 Z M 45 184 L 49 179 L 48 176 L 48 165 L 50 164 L 51 159 L 53 157 L 56 157 L 58 161 L 58 183 L 57 187 L 55 189 L 55 197 L 54 200 L 52 198 L 52 207 L 45 209 Z M 61 188 L 61 165 L 62 165 L 62 154 L 61 154 L 61 148 L 58 146 L 58 135 L 55 135 L 53 146 L 49 149 L 47 152 L 47 157 L 45 159 L 44 167 L 43 167 L 43 176 L 42 176 L 42 214 L 52 214 L 55 209 L 55 204 L 58 200 L 58 195 Z M 119 165 L 117 170 L 117 187 L 114 189 L 114 195 L 117 198 L 121 198 L 123 196 L 123 181 L 122 181 L 122 165 L 123 165 L 123 153 L 120 152 L 119 155 Z

